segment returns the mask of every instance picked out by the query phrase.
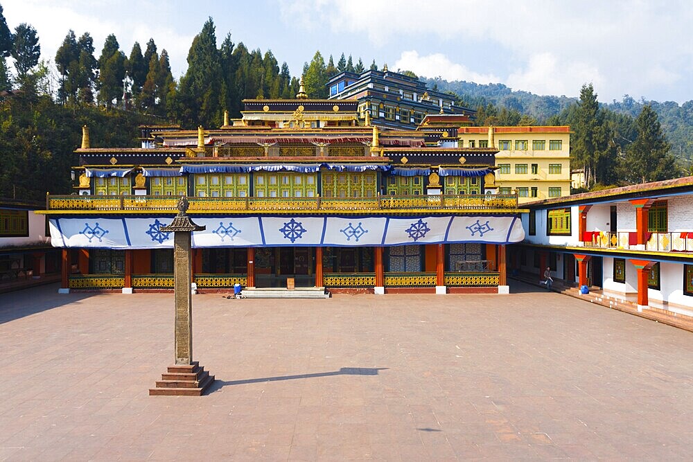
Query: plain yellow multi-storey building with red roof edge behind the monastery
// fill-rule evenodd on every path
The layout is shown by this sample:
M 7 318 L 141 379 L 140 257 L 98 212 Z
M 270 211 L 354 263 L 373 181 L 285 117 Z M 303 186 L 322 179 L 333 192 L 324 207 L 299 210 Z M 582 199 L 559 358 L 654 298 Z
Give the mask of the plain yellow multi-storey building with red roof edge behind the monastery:
M 530 202 L 570 195 L 570 127 L 460 127 L 459 147 L 493 148 L 498 193 Z

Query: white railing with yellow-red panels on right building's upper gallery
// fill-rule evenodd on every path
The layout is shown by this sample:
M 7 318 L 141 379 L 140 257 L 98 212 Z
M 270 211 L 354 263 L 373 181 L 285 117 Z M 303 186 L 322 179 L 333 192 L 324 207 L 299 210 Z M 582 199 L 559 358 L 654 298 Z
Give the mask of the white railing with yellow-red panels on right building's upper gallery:
M 649 238 L 645 242 L 644 249 L 660 252 L 693 252 L 693 233 L 668 232 L 648 233 Z M 634 232 L 610 231 L 595 232 L 592 241 L 586 241 L 585 247 L 599 247 L 602 249 L 641 249 L 634 243 Z M 689 237 L 690 236 L 690 237 Z

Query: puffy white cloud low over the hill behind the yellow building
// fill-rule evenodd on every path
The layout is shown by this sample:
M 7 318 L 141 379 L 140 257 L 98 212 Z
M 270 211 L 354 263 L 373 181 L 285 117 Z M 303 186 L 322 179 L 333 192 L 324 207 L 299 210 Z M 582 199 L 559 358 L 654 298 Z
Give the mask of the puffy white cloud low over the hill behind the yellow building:
M 561 60 L 552 53 L 532 55 L 523 69 L 516 69 L 505 80 L 505 84 L 514 90 L 556 96 L 574 96 L 582 85 L 589 82 L 597 89 L 604 82 L 595 66 L 565 58 Z

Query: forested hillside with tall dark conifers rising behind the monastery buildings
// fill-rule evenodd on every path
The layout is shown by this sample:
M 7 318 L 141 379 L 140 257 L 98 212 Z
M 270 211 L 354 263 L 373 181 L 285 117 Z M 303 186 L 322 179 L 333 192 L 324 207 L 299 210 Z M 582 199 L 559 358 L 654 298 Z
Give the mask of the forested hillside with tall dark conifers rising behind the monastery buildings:
M 175 79 L 166 48 L 153 37 L 125 53 L 111 34 L 98 52 L 88 32 L 65 32 L 55 56 L 42 56 L 37 30 L 26 23 L 10 30 L 0 6 L 0 196 L 71 193 L 82 125 L 89 125 L 93 147 L 137 146 L 141 123 L 219 127 L 225 110 L 240 116 L 244 98 L 294 98 L 301 76 L 310 98 L 326 98 L 332 75 L 366 69 L 361 57 L 306 50 L 310 61 L 292 75 L 270 50 L 234 44 L 230 32 L 219 40 L 209 18 L 191 43 L 186 73 Z M 369 69 L 378 69 L 376 60 Z M 586 170 L 586 188 L 690 174 L 693 101 L 680 106 L 626 96 L 600 106 L 591 85 L 577 100 L 500 84 L 423 80 L 476 109 L 477 125 L 570 125 L 572 166 Z

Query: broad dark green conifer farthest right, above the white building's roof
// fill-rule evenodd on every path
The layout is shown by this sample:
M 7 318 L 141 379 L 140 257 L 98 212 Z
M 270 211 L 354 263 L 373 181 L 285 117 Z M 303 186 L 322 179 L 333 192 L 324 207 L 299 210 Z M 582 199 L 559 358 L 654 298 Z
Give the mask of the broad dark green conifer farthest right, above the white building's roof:
M 669 144 L 662 132 L 657 113 L 651 105 L 644 105 L 638 118 L 638 137 L 626 153 L 626 165 L 631 178 L 647 183 L 675 178 L 678 175 L 676 161 L 669 150 Z

